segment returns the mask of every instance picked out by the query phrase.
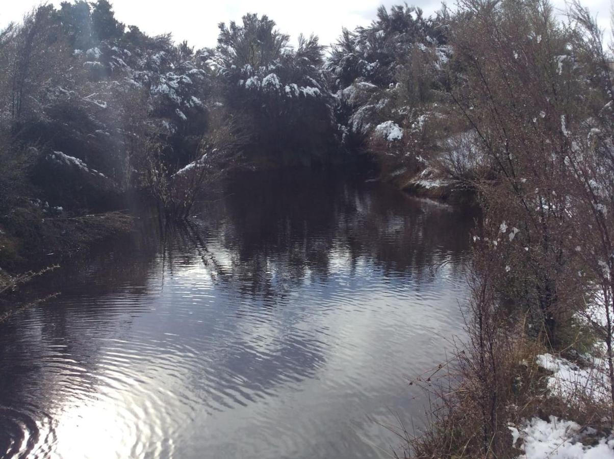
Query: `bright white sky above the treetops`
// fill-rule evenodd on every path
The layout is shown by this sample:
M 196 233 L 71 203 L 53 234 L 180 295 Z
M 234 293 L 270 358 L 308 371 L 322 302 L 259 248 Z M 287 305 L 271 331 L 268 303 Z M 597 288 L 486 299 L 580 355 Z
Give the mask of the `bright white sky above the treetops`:
M 406 0 L 432 14 L 441 6 L 440 0 Z M 606 29 L 606 41 L 610 40 L 610 10 L 614 0 L 581 0 L 600 27 Z M 2 0 L 0 26 L 18 21 L 25 12 L 41 4 L 39 0 Z M 368 25 L 375 18 L 379 5 L 401 4 L 403 0 L 310 0 L 288 2 L 286 0 L 111 0 L 115 17 L 126 25 L 136 25 L 141 31 L 157 35 L 171 32 L 179 42 L 187 40 L 196 48 L 213 47 L 217 41 L 217 24 L 231 20 L 240 21 L 245 13 L 266 14 L 273 19 L 280 31 L 290 34 L 295 42 L 298 34 L 314 33 L 324 45 L 336 41 L 341 28 L 353 29 Z M 60 1 L 50 1 L 59 6 Z M 448 1 L 453 5 L 454 1 Z M 553 0 L 554 6 L 564 9 L 564 0 Z

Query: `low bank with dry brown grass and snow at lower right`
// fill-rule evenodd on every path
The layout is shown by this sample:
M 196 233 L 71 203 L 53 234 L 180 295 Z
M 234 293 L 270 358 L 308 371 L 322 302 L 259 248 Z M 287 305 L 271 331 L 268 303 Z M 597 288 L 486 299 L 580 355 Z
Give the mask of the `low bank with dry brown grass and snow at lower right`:
M 572 341 L 553 350 L 508 330 L 504 343 L 484 342 L 492 352 L 484 360 L 474 335 L 439 370 L 414 381 L 437 403 L 426 430 L 407 436 L 406 455 L 614 457 L 607 353 L 586 322 L 567 331 Z

